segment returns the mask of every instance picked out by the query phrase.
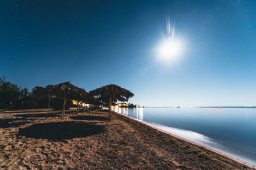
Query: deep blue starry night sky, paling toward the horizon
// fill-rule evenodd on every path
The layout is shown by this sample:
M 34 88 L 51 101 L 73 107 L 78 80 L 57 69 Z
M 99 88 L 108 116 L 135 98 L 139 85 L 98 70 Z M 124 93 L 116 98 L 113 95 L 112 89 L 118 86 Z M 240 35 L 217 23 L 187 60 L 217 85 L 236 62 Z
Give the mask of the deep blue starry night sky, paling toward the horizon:
M 145 106 L 256 105 L 256 1 L 1 1 L 0 76 L 20 87 L 115 83 Z M 156 48 L 182 39 L 182 54 Z

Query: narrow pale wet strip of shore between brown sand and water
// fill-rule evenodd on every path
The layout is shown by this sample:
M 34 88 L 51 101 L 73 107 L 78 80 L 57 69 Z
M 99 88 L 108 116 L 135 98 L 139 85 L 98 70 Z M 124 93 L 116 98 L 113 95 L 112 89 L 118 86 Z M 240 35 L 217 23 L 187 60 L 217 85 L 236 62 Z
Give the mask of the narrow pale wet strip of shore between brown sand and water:
M 124 115 L 124 114 L 122 114 L 122 113 L 118 113 L 118 112 L 115 112 L 115 111 L 112 111 L 112 112 L 115 113 L 115 114 L 118 114 L 118 115 L 122 115 L 122 116 L 124 116 L 124 117 L 126 117 L 126 118 L 130 118 L 131 120 L 135 120 L 136 122 L 140 122 L 141 124 L 144 124 L 144 125 L 147 125 L 147 126 L 149 126 L 149 127 L 152 127 L 153 129 L 156 129 L 157 131 L 164 132 L 165 134 L 169 134 L 170 136 L 173 136 L 173 137 L 175 137 L 175 138 L 181 139 L 181 140 L 186 141 L 186 142 L 188 142 L 188 143 L 191 143 L 191 144 L 193 144 L 193 145 L 200 146 L 200 147 L 203 147 L 203 148 L 205 148 L 205 149 L 207 149 L 207 150 L 210 150 L 210 151 L 212 151 L 212 152 L 218 153 L 218 154 L 220 154 L 220 155 L 222 155 L 222 156 L 224 156 L 224 157 L 227 157 L 228 159 L 235 160 L 235 161 L 238 162 L 239 164 L 244 164 L 244 165 L 246 165 L 246 166 L 252 167 L 253 169 L 256 168 L 256 164 L 253 164 L 253 163 L 251 163 L 251 162 L 247 162 L 246 160 L 242 160 L 242 159 L 240 159 L 240 158 L 238 158 L 238 157 L 235 157 L 234 155 L 231 155 L 231 154 L 225 153 L 225 152 L 223 152 L 223 151 L 221 151 L 221 150 L 212 148 L 211 146 L 203 145 L 203 144 L 201 144 L 201 143 L 197 143 L 197 142 L 195 142 L 195 141 L 191 141 L 191 140 L 189 140 L 189 139 L 182 138 L 182 137 L 180 137 L 180 136 L 178 136 L 178 135 L 176 135 L 176 134 L 173 134 L 173 133 L 168 132 L 168 131 L 164 131 L 163 129 L 160 129 L 160 128 L 158 128 L 158 127 L 155 127 L 154 125 L 150 125 L 150 124 L 148 124 L 148 123 L 146 123 L 146 122 L 143 122 L 143 121 L 141 121 L 141 120 L 138 120 L 138 119 L 136 119 L 136 118 L 128 117 L 127 115 Z

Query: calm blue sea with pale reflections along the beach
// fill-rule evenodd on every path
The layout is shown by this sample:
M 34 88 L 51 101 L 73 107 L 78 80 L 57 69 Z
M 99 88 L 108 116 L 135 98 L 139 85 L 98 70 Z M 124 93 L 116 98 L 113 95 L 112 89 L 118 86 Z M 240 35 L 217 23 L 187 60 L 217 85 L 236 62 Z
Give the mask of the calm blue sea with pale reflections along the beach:
M 256 164 L 256 108 L 113 108 Z

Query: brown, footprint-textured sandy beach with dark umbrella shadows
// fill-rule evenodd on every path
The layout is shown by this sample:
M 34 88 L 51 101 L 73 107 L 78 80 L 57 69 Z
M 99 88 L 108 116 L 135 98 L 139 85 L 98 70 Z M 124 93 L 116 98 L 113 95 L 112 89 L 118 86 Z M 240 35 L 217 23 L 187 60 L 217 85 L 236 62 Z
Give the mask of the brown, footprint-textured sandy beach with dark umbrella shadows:
M 253 169 L 106 111 L 0 114 L 1 169 Z

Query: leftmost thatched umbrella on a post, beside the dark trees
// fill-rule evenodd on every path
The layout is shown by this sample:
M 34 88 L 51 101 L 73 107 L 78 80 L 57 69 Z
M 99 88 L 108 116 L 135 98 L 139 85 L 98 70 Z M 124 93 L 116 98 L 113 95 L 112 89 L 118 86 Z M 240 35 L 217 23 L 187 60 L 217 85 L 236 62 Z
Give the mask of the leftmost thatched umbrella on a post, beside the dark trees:
M 58 85 L 52 86 L 52 92 L 54 94 L 61 95 L 64 98 L 63 110 L 62 110 L 62 117 L 64 117 L 67 98 L 74 98 L 75 96 L 81 96 L 83 93 L 83 90 L 80 89 L 79 87 L 72 85 L 70 81 L 67 81 L 65 83 L 60 83 Z

